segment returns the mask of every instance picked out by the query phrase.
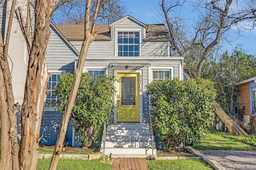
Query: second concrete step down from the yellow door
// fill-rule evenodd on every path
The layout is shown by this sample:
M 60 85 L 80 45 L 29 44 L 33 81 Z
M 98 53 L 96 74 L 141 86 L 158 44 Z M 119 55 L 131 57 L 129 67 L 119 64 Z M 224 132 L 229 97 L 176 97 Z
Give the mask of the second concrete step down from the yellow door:
M 150 135 L 149 129 L 145 130 L 108 130 L 107 135 Z

